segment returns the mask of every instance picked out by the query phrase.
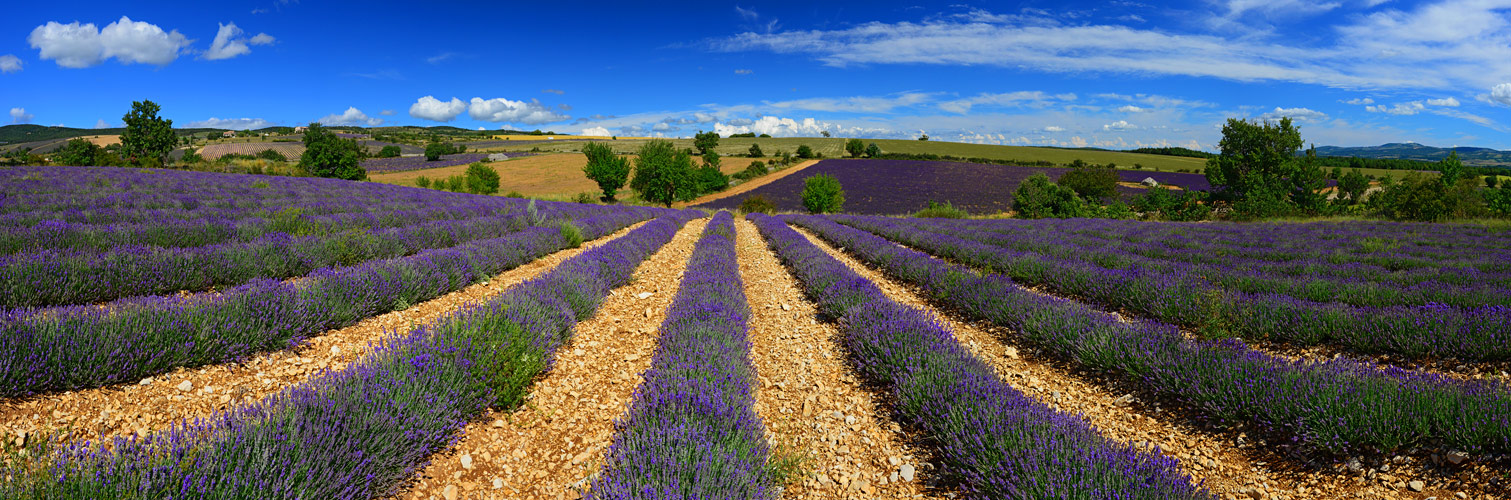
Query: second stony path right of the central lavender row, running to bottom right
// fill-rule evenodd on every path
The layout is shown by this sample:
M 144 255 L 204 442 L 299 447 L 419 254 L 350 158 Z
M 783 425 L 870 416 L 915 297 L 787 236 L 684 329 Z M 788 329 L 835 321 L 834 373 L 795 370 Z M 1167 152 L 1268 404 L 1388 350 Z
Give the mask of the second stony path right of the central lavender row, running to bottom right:
M 1183 471 L 1204 482 L 1228 500 L 1299 500 L 1299 498 L 1493 498 L 1479 488 L 1454 488 L 1441 476 L 1426 473 L 1422 458 L 1402 456 L 1399 462 L 1360 467 L 1299 464 L 1283 456 L 1266 443 L 1239 431 L 1198 427 L 1179 411 L 1163 409 L 1159 402 L 1145 402 L 1120 391 L 1120 384 L 1077 366 L 1035 356 L 1029 347 L 1003 340 L 1014 334 L 991 325 L 959 322 L 931 307 L 910 287 L 885 278 L 848 254 L 830 246 L 802 228 L 804 237 L 834 255 L 852 270 L 875 282 L 893 301 L 929 311 L 955 334 L 973 353 L 991 364 L 1014 388 L 1050 408 L 1080 414 L 1102 435 L 1133 443 L 1145 450 L 1180 461 Z M 1475 474 L 1490 474 L 1488 470 Z M 1420 483 L 1413 483 L 1420 480 Z M 1422 488 L 1413 488 L 1422 486 Z M 1467 491 L 1467 492 L 1464 492 Z M 1464 497 L 1455 495 L 1464 492 Z

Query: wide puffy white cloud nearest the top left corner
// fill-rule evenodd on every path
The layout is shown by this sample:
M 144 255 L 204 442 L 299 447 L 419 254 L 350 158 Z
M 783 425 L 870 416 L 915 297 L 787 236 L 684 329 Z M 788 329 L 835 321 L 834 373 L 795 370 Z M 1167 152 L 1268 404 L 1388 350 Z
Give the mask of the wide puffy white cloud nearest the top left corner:
M 33 29 L 26 41 L 42 59 L 53 59 L 63 68 L 89 68 L 110 57 L 121 63 L 162 66 L 178 59 L 178 53 L 192 42 L 178 30 L 163 32 L 157 24 L 131 21 L 124 15 L 104 29 L 95 29 L 94 23 L 47 21 Z

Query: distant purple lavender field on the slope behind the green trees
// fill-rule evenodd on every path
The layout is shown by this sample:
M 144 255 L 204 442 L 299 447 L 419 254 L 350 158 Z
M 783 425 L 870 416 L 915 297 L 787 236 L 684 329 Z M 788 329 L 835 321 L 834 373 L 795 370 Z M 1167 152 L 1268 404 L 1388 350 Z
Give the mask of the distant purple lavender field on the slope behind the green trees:
M 751 195 L 762 195 L 783 211 L 801 211 L 802 180 L 810 175 L 834 175 L 845 186 L 845 210 L 864 215 L 913 213 L 934 202 L 950 202 L 970 213 L 999 213 L 1012 208 L 1012 192 L 1034 174 L 1059 178 L 1064 168 L 982 165 L 958 162 L 913 160 L 822 160 L 796 175 L 757 187 L 740 196 L 715 199 L 698 207 L 733 210 Z M 1117 171 L 1126 183 L 1153 177 L 1160 184 L 1207 190 L 1212 186 L 1201 174 Z M 1118 186 L 1118 196 L 1129 198 L 1144 189 Z

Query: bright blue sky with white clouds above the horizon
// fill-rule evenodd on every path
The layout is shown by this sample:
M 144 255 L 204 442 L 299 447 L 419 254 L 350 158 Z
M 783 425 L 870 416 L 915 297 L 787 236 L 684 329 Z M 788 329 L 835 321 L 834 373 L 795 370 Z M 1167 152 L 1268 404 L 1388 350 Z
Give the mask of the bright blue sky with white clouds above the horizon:
M 1511 150 L 1511 0 L 26 2 L 0 122 L 698 130 L 1213 150 L 1227 118 L 1307 142 Z

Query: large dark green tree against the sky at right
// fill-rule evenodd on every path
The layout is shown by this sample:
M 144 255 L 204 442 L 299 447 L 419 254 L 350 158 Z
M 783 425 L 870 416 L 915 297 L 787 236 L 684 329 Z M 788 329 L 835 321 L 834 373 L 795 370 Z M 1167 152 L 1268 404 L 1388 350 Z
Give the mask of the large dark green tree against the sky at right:
M 1272 216 L 1290 210 L 1292 178 L 1299 177 L 1296 150 L 1301 131 L 1281 118 L 1278 124 L 1228 118 L 1222 125 L 1221 154 L 1207 160 L 1207 181 L 1245 216 Z

